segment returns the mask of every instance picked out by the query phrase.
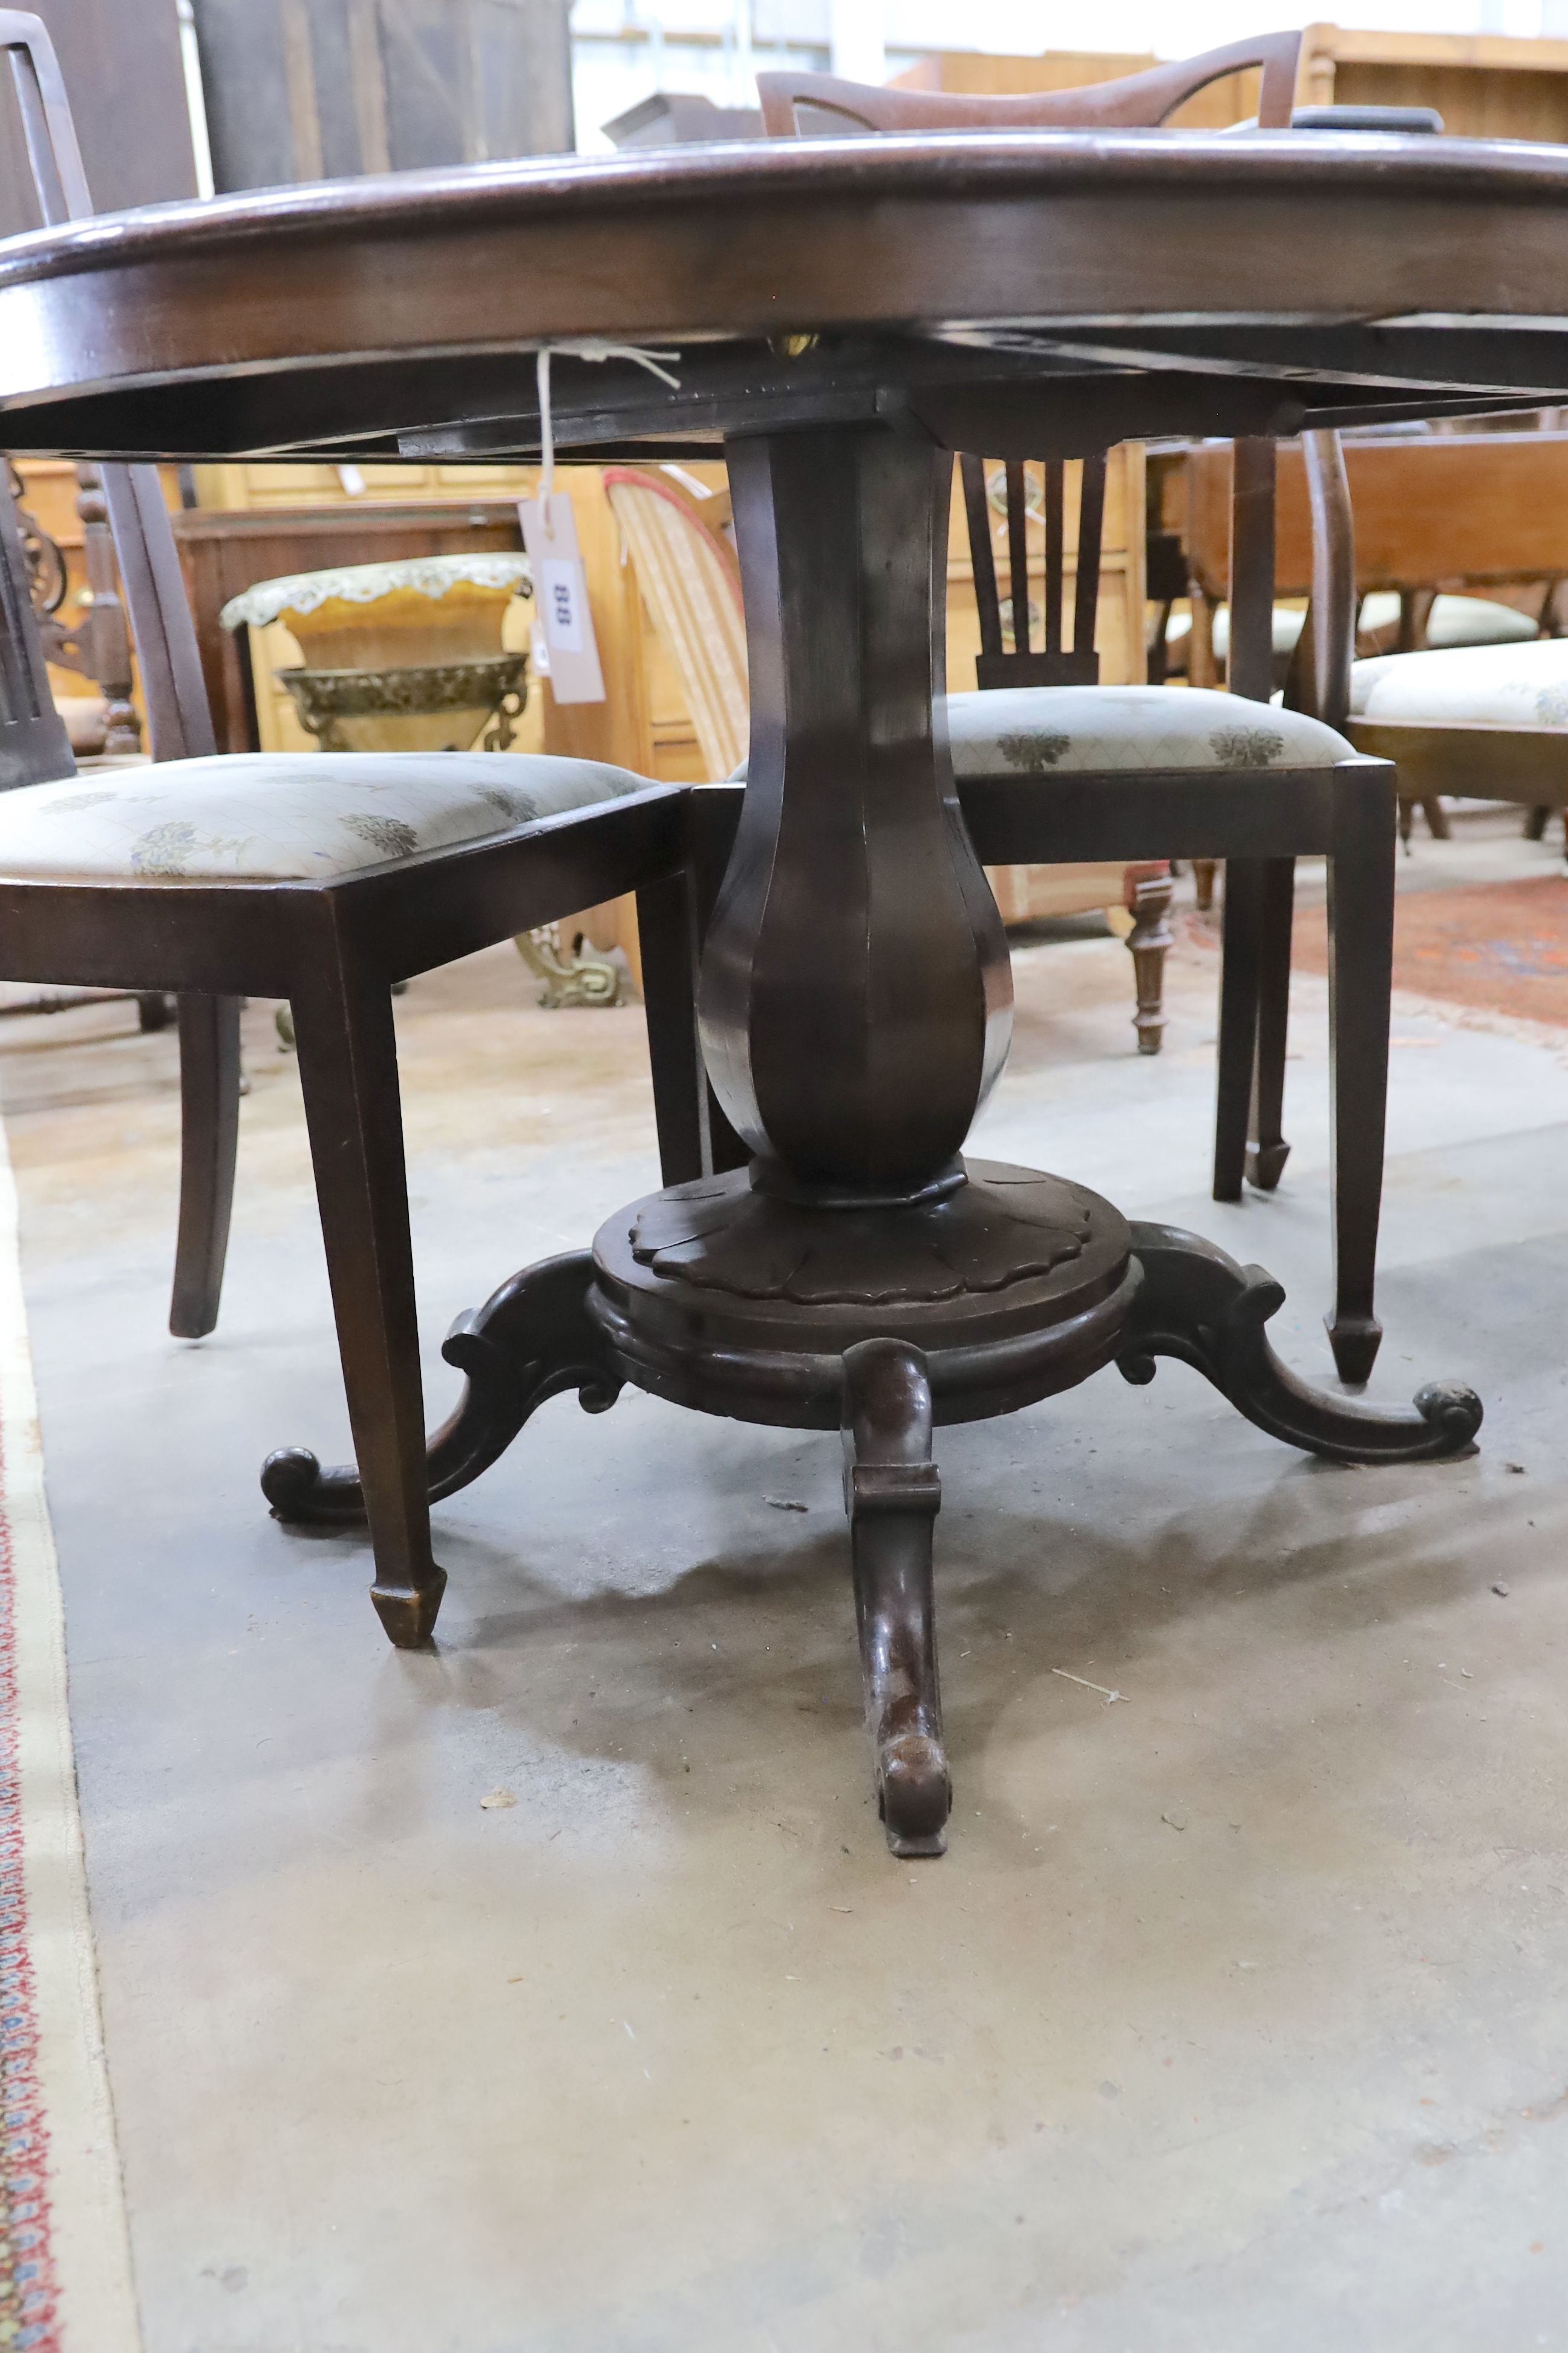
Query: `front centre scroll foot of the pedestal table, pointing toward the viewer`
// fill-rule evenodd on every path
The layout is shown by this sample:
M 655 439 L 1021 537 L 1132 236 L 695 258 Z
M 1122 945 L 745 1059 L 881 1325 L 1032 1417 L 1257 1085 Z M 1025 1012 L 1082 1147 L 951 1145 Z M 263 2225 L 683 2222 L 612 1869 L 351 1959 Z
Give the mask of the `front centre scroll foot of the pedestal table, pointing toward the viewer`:
M 844 1508 L 877 1798 L 893 1854 L 943 1854 L 952 1781 L 936 1682 L 931 1384 L 919 1348 L 844 1351 Z

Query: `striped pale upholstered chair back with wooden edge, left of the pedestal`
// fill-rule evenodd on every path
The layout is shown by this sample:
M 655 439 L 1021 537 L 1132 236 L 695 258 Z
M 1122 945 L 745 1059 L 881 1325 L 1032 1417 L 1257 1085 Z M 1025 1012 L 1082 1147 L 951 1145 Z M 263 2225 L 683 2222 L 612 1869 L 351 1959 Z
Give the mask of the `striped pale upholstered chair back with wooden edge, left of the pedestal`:
M 703 765 L 717 784 L 748 741 L 741 565 L 726 539 L 665 475 L 607 466 L 604 494 L 637 569 L 649 619 L 670 647 Z

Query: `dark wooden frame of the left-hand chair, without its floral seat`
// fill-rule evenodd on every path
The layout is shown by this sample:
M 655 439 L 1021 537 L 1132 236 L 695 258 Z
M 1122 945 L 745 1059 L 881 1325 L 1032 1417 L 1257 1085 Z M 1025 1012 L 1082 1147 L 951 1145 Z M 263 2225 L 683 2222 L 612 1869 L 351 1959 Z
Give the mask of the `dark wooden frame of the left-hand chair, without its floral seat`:
M 54 49 L 35 16 L 0 12 L 40 198 L 85 207 L 85 179 Z M 103 468 L 143 692 L 160 758 L 212 751 L 202 671 L 174 536 L 153 466 Z M 9 496 L 0 534 L 16 539 Z M 5 551 L 0 551 L 5 553 Z M 0 729 L 9 784 L 71 774 L 47 694 L 26 574 L 0 562 Z M 393 984 L 639 894 L 644 988 L 665 1181 L 712 1167 L 698 1085 L 693 969 L 717 878 L 693 889 L 686 791 L 642 793 L 520 833 L 435 849 L 336 882 L 101 885 L 0 878 L 0 969 L 16 981 L 176 991 L 181 1002 L 181 1245 L 172 1325 L 209 1329 L 228 1233 L 237 1111 L 237 1009 L 287 998 L 327 1242 L 343 1384 L 376 1553 L 376 1609 L 400 1645 L 428 1638 L 444 1577 L 430 1555 L 425 1424 L 409 1202 L 393 1035 Z M 733 1136 L 719 1125 L 719 1151 Z M 181 1287 L 183 1285 L 183 1287 Z M 275 1485 L 275 1482 L 273 1482 Z M 284 1473 L 287 1485 L 287 1473 Z

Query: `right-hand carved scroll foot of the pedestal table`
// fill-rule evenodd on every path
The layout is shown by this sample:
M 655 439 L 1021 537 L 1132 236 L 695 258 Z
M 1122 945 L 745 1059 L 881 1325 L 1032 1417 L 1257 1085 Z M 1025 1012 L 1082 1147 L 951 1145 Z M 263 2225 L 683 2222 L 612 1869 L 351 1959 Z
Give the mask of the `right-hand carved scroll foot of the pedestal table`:
M 1152 1381 L 1154 1358 L 1206 1374 L 1237 1412 L 1272 1438 L 1340 1464 L 1415 1464 L 1462 1454 L 1481 1428 L 1481 1400 L 1462 1381 L 1429 1381 L 1403 1407 L 1361 1405 L 1300 1381 L 1269 1348 L 1265 1322 L 1284 1289 L 1262 1266 L 1237 1266 L 1178 1226 L 1133 1226 L 1143 1289 L 1117 1367 Z

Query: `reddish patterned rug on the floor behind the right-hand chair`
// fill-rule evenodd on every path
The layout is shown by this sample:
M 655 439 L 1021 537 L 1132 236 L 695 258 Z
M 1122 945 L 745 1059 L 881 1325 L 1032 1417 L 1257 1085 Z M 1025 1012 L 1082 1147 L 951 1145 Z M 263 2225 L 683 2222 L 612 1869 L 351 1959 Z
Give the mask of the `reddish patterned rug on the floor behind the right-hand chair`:
M 1298 911 L 1293 960 L 1328 972 L 1324 908 Z M 1403 892 L 1394 988 L 1568 1028 L 1568 875 Z

